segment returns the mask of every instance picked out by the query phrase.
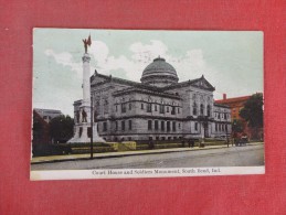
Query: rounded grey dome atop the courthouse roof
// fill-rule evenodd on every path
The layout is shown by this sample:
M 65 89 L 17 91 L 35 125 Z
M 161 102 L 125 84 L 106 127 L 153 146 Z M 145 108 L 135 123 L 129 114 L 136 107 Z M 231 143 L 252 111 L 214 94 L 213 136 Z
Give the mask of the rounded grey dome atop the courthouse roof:
M 165 87 L 178 83 L 179 78 L 173 66 L 165 58 L 155 58 L 142 72 L 141 83 Z

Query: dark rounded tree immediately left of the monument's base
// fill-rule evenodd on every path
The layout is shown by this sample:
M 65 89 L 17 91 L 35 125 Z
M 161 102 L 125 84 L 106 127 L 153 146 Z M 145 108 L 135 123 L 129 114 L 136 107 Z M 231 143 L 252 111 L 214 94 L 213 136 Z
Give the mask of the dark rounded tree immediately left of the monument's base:
M 61 115 L 50 121 L 50 137 L 55 142 L 66 142 L 73 137 L 74 120 L 67 115 Z

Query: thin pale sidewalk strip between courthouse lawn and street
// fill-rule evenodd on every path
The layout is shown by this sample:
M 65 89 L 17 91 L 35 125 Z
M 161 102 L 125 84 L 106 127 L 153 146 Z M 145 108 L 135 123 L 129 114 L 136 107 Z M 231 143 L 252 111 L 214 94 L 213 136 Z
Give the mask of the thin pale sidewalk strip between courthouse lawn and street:
M 247 146 L 263 144 L 263 142 L 252 142 Z M 235 146 L 233 146 L 235 147 Z M 182 152 L 182 151 L 197 151 L 197 150 L 209 150 L 209 149 L 222 149 L 227 148 L 226 144 L 222 146 L 211 146 L 204 148 L 172 148 L 172 149 L 153 149 L 153 150 L 140 150 L 140 151 L 123 151 L 123 152 L 107 152 L 107 153 L 94 153 L 94 159 L 106 159 L 106 158 L 117 158 L 117 157 L 128 157 L 128 155 L 141 155 L 141 154 L 156 154 L 156 153 L 171 153 L 171 152 Z M 232 146 L 230 144 L 230 148 Z M 64 155 L 50 155 L 50 157 L 36 157 L 31 160 L 31 164 L 36 163 L 51 163 L 61 161 L 74 161 L 74 160 L 87 160 L 91 158 L 89 153 L 86 154 L 64 154 Z

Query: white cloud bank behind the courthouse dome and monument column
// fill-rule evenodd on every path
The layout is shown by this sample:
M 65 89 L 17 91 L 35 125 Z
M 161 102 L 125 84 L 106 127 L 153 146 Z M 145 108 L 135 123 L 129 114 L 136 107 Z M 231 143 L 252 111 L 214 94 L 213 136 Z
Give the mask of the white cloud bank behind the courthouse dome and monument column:
M 123 78 L 139 82 L 144 68 L 153 58 L 161 56 L 176 68 L 181 80 L 197 78 L 202 74 L 208 76 L 210 72 L 213 73 L 213 68 L 208 66 L 203 57 L 203 51 L 200 49 L 189 50 L 178 56 L 170 54 L 168 46 L 161 41 L 150 40 L 147 44 L 133 43 L 128 50 L 131 52 L 129 56 L 115 57 L 109 53 L 107 44 L 102 41 L 93 41 L 89 53 L 95 63 L 91 64 L 91 69 L 97 69 L 98 73 L 106 75 L 116 75 L 120 71 Z M 77 73 L 78 77 L 82 77 L 82 63 L 76 63 L 71 53 L 55 53 L 53 50 L 46 50 L 45 54 L 53 56 L 57 64 L 70 66 L 72 71 Z

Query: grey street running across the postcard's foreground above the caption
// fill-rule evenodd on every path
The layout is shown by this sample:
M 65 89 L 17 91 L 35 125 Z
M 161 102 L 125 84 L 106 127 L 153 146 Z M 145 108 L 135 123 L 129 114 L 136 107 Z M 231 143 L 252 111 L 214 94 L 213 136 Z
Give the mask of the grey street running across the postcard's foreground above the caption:
M 31 164 L 31 170 L 148 169 L 264 165 L 264 144 Z

